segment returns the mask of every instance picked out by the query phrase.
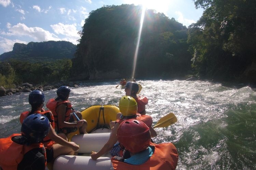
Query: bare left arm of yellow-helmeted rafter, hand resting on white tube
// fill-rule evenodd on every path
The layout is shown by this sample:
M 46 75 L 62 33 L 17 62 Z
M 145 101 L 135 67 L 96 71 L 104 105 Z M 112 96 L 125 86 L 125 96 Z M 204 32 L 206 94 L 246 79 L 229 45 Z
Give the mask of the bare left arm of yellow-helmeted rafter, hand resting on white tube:
M 108 142 L 106 142 L 106 144 L 103 146 L 103 148 L 101 148 L 101 150 L 99 152 L 91 153 L 92 159 L 94 159 L 94 160 L 98 159 L 100 156 L 102 156 L 104 153 L 110 151 L 114 147 L 115 143 L 118 140 L 117 136 L 116 136 L 118 127 L 119 127 L 119 123 L 116 123 L 114 128 L 112 129 L 112 133 L 109 137 Z

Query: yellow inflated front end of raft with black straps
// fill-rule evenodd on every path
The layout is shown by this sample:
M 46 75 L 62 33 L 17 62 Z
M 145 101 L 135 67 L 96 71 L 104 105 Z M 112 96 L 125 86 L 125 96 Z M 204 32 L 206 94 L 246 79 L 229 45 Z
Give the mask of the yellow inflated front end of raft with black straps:
M 116 105 L 93 105 L 84 109 L 82 113 L 82 118 L 87 121 L 86 132 L 90 133 L 91 131 L 103 126 L 109 126 L 111 121 L 116 120 L 116 114 L 120 110 Z M 104 114 L 104 119 L 103 119 Z M 105 120 L 105 124 L 104 124 Z M 68 141 L 71 140 L 72 136 L 79 134 L 79 131 L 67 134 Z

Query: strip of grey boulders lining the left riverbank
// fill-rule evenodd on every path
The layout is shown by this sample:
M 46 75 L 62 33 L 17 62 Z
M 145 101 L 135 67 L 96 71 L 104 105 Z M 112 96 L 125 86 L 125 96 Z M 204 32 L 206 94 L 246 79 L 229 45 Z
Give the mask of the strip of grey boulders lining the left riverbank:
M 9 96 L 13 95 L 16 93 L 22 93 L 22 92 L 31 92 L 33 90 L 40 90 L 40 91 L 45 91 L 45 90 L 52 90 L 52 89 L 57 89 L 60 86 L 69 86 L 69 87 L 79 87 L 77 85 L 77 82 L 69 82 L 69 83 L 55 83 L 53 85 L 50 84 L 37 84 L 33 85 L 30 83 L 23 83 L 21 85 L 16 85 L 15 88 L 11 89 L 5 89 L 3 86 L 0 86 L 0 96 Z

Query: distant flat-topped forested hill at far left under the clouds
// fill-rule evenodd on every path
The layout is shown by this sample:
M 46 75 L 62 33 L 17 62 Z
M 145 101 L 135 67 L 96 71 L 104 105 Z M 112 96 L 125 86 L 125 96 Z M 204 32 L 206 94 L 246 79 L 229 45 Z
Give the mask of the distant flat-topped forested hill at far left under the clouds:
M 10 59 L 43 62 L 54 61 L 62 58 L 73 58 L 76 45 L 68 41 L 45 41 L 26 44 L 15 43 L 13 50 L 0 55 L 0 61 Z

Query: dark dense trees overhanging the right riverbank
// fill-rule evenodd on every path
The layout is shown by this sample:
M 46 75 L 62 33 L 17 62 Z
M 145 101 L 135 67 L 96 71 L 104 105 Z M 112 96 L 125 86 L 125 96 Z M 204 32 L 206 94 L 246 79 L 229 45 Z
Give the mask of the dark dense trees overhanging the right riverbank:
M 188 33 L 195 73 L 214 80 L 256 83 L 256 1 L 194 1 L 205 9 Z

